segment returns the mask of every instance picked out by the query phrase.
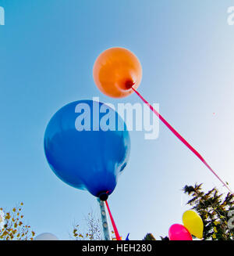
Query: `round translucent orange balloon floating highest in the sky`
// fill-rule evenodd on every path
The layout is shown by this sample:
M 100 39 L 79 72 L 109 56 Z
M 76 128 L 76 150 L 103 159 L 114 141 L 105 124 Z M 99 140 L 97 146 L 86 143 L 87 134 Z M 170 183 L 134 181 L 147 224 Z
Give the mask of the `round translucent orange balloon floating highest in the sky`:
M 128 49 L 115 47 L 105 50 L 94 63 L 94 82 L 105 95 L 123 98 L 137 89 L 142 68 L 137 56 Z

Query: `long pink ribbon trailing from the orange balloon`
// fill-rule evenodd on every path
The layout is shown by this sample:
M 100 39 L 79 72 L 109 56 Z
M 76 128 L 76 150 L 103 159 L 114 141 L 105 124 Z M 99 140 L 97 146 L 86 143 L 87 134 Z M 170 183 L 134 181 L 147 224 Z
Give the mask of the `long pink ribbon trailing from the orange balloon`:
M 181 135 L 179 135 L 179 132 L 176 132 L 176 130 L 172 127 L 171 124 L 169 124 L 167 121 L 165 121 L 165 119 L 161 116 L 161 114 L 158 113 L 157 110 L 154 110 L 154 107 L 151 106 L 150 103 L 147 102 L 146 99 L 143 98 L 143 96 L 140 95 L 139 92 L 137 92 L 137 90 L 135 90 L 133 87 L 132 87 L 133 91 L 137 93 L 137 96 L 140 97 L 140 99 L 142 99 L 144 101 L 144 103 L 147 104 L 147 106 L 149 106 L 149 108 L 154 112 L 154 114 L 156 114 L 158 116 L 158 118 L 171 130 L 172 133 L 174 133 L 174 135 L 176 135 L 176 137 L 181 141 L 183 142 L 183 144 L 185 144 L 203 163 L 204 165 L 216 176 L 216 178 L 218 178 L 218 180 L 220 182 L 222 182 L 222 184 L 227 188 L 229 189 L 229 186 L 226 185 L 225 182 L 222 181 L 221 178 L 218 177 L 218 175 L 215 173 L 215 171 L 213 171 L 213 169 L 210 167 L 209 164 L 207 164 L 207 162 L 204 160 L 203 157 L 201 157 L 200 153 L 197 152 L 197 150 L 195 150 L 193 148 L 193 146 L 190 145 L 189 142 L 186 141 L 186 139 L 183 139 L 183 137 Z M 229 192 L 232 193 L 232 190 L 229 189 Z

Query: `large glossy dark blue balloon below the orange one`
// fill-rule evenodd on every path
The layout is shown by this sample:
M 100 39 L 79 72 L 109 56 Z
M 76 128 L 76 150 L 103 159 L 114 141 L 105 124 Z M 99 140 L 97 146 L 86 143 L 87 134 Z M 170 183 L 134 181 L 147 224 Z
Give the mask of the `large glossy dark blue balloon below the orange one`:
M 44 133 L 44 153 L 55 175 L 102 200 L 114 191 L 129 150 L 125 122 L 111 107 L 92 100 L 63 106 Z

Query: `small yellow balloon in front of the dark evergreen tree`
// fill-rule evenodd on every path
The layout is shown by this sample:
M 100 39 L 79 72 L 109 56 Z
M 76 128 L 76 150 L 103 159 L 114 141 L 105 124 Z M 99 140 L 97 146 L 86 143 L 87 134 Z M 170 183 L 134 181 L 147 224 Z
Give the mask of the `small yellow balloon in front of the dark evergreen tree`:
M 195 211 L 186 211 L 183 214 L 183 225 L 190 231 L 193 236 L 202 239 L 204 224 L 202 219 Z

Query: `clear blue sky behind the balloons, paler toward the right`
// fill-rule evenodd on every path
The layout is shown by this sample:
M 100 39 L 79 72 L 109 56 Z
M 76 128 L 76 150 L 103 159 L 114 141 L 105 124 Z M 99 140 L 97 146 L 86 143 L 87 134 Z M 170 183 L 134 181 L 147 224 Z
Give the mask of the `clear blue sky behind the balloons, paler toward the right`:
M 24 202 L 37 234 L 69 239 L 94 197 L 60 181 L 44 157 L 44 130 L 62 106 L 97 96 L 104 103 L 139 103 L 104 96 L 94 85 L 98 54 L 112 46 L 133 51 L 143 67 L 139 92 L 234 189 L 233 1 L 0 0 L 0 206 Z M 109 198 L 119 233 L 142 240 L 166 236 L 182 223 L 185 185 L 218 179 L 168 128 L 145 140 L 130 132 L 129 163 Z

